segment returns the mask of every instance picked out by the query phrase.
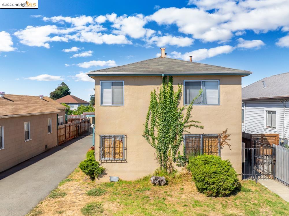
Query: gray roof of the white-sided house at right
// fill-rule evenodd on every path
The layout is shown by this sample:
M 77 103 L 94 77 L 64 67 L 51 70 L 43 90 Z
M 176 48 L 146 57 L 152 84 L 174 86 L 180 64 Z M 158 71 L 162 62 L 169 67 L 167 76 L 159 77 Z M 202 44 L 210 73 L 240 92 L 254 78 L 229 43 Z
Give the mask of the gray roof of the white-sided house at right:
M 289 97 L 289 72 L 266 77 L 242 88 L 242 99 Z M 266 83 L 266 88 L 263 82 Z

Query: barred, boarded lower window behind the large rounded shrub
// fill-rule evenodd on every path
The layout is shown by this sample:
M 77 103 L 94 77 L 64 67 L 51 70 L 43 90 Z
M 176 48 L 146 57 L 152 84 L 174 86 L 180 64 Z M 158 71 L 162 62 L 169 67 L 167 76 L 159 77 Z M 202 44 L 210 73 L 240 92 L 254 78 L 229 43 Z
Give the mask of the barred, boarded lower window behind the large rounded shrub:
M 187 157 L 203 154 L 221 156 L 218 134 L 185 134 L 184 144 Z

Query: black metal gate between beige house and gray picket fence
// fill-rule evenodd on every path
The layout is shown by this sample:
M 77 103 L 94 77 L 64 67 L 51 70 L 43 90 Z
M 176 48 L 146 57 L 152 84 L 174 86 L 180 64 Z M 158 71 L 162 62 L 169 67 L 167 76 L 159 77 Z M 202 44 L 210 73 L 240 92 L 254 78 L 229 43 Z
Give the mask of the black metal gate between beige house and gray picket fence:
M 244 137 L 242 142 L 242 179 L 275 180 L 275 148 Z

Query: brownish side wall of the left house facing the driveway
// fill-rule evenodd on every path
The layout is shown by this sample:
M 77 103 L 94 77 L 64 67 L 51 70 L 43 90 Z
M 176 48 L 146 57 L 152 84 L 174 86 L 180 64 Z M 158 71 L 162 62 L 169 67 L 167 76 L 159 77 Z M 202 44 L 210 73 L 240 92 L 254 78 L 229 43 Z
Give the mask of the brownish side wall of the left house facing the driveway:
M 52 133 L 48 134 L 48 121 Z M 0 119 L 4 126 L 4 149 L 0 149 L 0 172 L 57 146 L 57 113 Z M 24 122 L 30 122 L 31 140 L 25 142 Z

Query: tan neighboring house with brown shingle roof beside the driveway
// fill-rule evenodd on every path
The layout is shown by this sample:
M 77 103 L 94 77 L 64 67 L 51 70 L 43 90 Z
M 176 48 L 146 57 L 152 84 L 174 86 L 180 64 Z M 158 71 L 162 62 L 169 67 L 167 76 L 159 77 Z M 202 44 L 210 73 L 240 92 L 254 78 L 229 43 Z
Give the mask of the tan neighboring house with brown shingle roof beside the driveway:
M 49 97 L 0 94 L 0 172 L 57 146 L 65 106 Z

